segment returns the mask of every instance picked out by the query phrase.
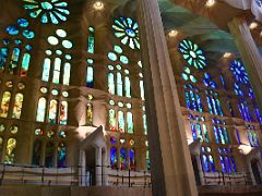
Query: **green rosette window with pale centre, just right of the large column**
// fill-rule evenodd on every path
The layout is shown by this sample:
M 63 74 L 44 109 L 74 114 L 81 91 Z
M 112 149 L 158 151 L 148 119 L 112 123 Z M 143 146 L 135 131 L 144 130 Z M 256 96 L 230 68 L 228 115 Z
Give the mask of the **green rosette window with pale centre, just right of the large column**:
M 188 61 L 189 65 L 193 65 L 195 69 L 203 69 L 206 66 L 206 58 L 202 49 L 198 45 L 190 40 L 182 40 L 178 47 L 182 57 Z

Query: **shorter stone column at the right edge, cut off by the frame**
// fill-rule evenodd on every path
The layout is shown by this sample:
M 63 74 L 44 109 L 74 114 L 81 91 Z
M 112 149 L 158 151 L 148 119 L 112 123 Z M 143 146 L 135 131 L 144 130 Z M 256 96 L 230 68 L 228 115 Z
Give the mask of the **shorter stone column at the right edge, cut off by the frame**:
M 260 111 L 262 111 L 262 57 L 259 53 L 245 17 L 235 17 L 228 23 L 228 27 L 249 74 Z

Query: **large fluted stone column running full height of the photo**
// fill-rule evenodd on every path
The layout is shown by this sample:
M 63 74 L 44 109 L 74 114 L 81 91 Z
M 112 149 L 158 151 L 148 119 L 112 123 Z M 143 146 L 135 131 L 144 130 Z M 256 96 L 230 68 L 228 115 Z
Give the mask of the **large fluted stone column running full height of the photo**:
M 198 195 L 157 0 L 138 4 L 153 195 Z

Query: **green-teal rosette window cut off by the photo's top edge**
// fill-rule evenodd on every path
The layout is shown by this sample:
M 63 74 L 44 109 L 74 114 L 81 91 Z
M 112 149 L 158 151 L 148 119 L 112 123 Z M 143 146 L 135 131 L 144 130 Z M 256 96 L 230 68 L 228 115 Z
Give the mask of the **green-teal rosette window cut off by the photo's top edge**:
M 67 15 L 70 14 L 67 7 L 68 3 L 62 0 L 24 0 L 24 9 L 29 12 L 29 16 L 40 17 L 44 24 L 67 21 Z

